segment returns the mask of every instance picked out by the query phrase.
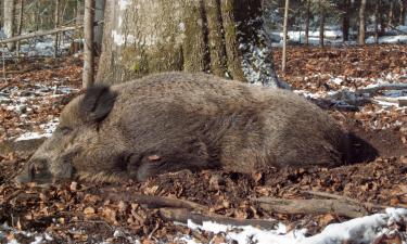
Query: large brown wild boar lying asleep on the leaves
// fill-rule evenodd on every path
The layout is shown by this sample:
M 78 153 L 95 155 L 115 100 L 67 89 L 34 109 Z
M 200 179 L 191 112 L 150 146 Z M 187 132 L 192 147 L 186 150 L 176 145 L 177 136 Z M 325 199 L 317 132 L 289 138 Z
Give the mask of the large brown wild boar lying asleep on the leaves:
M 181 169 L 338 166 L 347 150 L 341 126 L 291 91 L 164 73 L 93 87 L 74 99 L 17 181 L 142 181 Z

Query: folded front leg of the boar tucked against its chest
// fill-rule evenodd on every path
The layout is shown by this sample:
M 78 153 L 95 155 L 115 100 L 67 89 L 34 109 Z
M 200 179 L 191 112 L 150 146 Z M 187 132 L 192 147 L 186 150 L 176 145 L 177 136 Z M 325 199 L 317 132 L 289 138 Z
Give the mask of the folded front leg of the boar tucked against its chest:
M 128 165 L 130 176 L 143 181 L 160 174 L 213 167 L 205 143 L 196 140 L 185 140 L 178 145 L 173 143 L 160 143 L 133 157 L 135 160 Z

